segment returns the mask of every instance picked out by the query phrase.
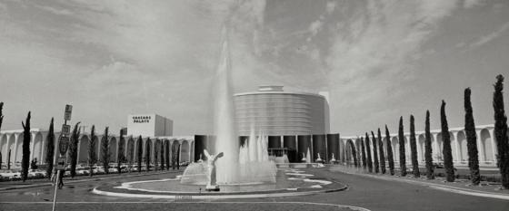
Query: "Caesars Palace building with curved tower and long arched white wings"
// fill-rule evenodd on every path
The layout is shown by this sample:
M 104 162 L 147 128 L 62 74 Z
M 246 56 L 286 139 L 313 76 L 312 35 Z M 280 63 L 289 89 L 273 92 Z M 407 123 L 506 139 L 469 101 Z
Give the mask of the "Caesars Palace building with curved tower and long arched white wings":
M 324 160 L 334 158 L 339 162 L 353 163 L 353 151 L 360 153 L 360 141 L 357 137 L 340 137 L 329 129 L 329 104 L 327 93 L 306 93 L 284 91 L 282 86 L 260 86 L 258 91 L 237 93 L 235 101 L 235 122 L 241 143 L 252 130 L 263 131 L 268 136 L 268 148 L 288 153 L 290 162 L 299 162 L 309 150 L 314 161 L 318 154 Z M 119 144 L 124 143 L 124 151 L 136 151 L 138 137 L 142 137 L 143 157 L 146 148 L 150 149 L 151 160 L 161 160 L 161 151 L 168 151 L 172 158 L 180 162 L 193 162 L 200 158 L 201 151 L 207 143 L 215 141 L 214 136 L 193 134 L 190 136 L 173 136 L 173 120 L 157 114 L 129 115 L 127 128 L 123 129 L 125 141 L 120 141 L 118 134 L 108 136 L 111 162 L 116 162 Z M 481 166 L 496 165 L 496 142 L 494 126 L 476 127 L 477 148 Z M 451 148 L 454 165 L 468 165 L 466 138 L 464 128 L 450 129 Z M 58 137 L 60 132 L 55 133 Z M 256 133 L 258 134 L 258 133 Z M 47 130 L 31 129 L 30 160 L 37 159 L 39 164 L 45 163 Z M 9 150 L 13 168 L 21 166 L 23 130 L 4 130 L 0 132 L 0 152 L 2 166 L 6 166 Z M 362 137 L 362 136 L 360 136 Z M 399 149 L 397 134 L 391 135 L 393 149 Z M 102 135 L 96 137 L 95 151 L 99 157 Z M 415 133 L 419 162 L 424 164 L 424 131 Z M 78 163 L 86 163 L 90 134 L 82 133 L 78 145 Z M 410 160 L 410 134 L 404 134 L 406 159 Z M 433 158 L 441 162 L 442 134 L 440 129 L 432 130 Z M 383 139 L 386 149 L 386 139 Z M 372 144 L 372 143 L 370 143 Z M 57 152 L 55 144 L 55 152 Z M 355 150 L 354 150 L 355 149 Z M 373 147 L 372 147 L 373 149 Z M 212 150 L 212 149 L 209 149 Z M 157 152 L 157 153 L 155 153 Z M 373 152 L 371 152 L 373 153 Z M 386 154 L 386 150 L 384 150 Z M 399 150 L 394 150 L 394 161 L 399 160 Z M 57 153 L 55 153 L 57 154 Z M 277 154 L 274 154 L 277 155 Z M 56 156 L 56 155 L 55 155 Z M 360 156 L 356 156 L 360 158 Z M 136 161 L 136 160 L 135 160 Z

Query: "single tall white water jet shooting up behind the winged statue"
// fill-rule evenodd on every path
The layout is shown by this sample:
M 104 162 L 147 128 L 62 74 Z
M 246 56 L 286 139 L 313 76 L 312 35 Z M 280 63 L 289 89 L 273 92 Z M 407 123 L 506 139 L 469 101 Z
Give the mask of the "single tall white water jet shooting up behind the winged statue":
M 230 50 L 226 29 L 223 28 L 223 48 L 215 73 L 215 152 L 225 152 L 217 160 L 217 183 L 238 182 L 239 141 L 236 139 L 234 122 L 234 101 L 231 82 Z

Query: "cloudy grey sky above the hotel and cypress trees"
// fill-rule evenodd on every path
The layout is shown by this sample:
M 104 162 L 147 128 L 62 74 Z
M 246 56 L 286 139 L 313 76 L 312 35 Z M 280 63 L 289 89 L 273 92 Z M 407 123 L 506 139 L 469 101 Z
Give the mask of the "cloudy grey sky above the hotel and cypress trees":
M 493 84 L 509 77 L 509 1 L 0 0 L 2 129 L 63 123 L 90 129 L 127 115 L 174 120 L 175 135 L 210 133 L 222 29 L 234 92 L 258 85 L 329 91 L 331 132 L 493 124 Z M 507 82 L 506 82 L 507 84 Z M 507 87 L 507 85 L 506 85 Z M 506 91 L 507 92 L 507 91 Z M 508 105 L 507 94 L 504 94 Z

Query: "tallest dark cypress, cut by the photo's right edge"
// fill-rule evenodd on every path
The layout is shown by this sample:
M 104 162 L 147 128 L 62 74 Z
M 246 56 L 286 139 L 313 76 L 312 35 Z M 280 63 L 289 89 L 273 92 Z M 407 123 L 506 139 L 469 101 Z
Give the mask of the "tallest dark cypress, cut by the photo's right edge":
M 498 149 L 497 165 L 502 176 L 502 187 L 509 189 L 509 138 L 507 116 L 504 110 L 504 76 L 497 75 L 494 84 L 494 138 Z

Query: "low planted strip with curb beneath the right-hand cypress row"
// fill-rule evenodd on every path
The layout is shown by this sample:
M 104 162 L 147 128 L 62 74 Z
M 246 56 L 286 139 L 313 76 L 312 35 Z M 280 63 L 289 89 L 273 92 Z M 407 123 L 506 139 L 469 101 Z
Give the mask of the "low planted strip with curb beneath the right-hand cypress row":
M 421 185 L 424 187 L 431 187 L 448 192 L 477 196 L 477 197 L 492 197 L 509 200 L 509 190 L 502 189 L 500 183 L 481 182 L 480 186 L 472 186 L 470 180 L 456 179 L 454 182 L 445 181 L 444 177 L 435 177 L 435 179 L 427 179 L 426 177 L 414 177 L 407 175 L 406 177 L 391 176 L 388 174 L 374 174 L 366 173 L 362 168 L 349 168 L 345 166 L 331 166 L 330 171 L 338 171 L 346 174 L 359 175 L 364 177 L 374 177 L 384 180 L 400 181 Z

